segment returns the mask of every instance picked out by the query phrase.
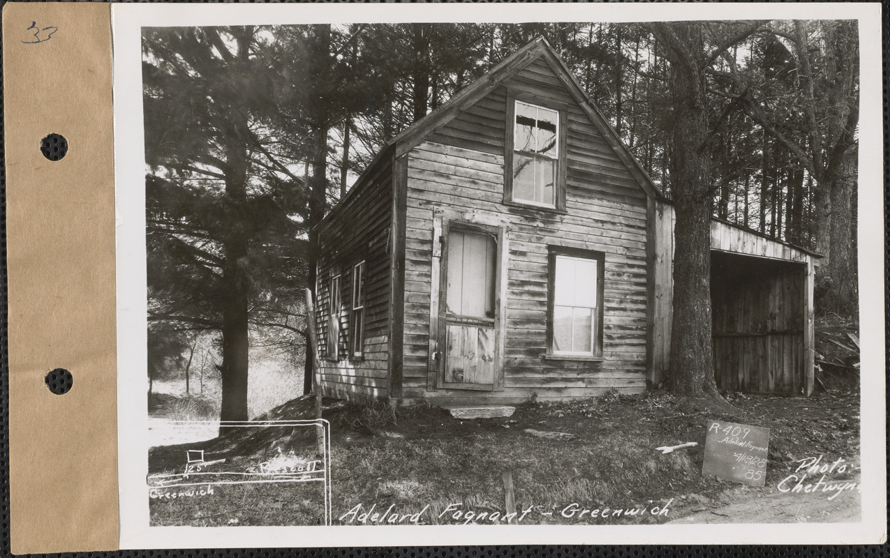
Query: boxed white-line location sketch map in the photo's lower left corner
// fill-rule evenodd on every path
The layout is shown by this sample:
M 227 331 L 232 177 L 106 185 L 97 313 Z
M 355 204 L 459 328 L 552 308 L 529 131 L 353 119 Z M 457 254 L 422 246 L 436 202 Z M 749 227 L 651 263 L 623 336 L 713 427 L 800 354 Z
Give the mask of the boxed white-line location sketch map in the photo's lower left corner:
M 208 427 L 218 430 L 221 425 L 169 421 L 150 430 Z M 328 421 L 251 421 L 222 427 L 228 431 L 225 436 L 150 449 L 151 525 L 331 524 Z

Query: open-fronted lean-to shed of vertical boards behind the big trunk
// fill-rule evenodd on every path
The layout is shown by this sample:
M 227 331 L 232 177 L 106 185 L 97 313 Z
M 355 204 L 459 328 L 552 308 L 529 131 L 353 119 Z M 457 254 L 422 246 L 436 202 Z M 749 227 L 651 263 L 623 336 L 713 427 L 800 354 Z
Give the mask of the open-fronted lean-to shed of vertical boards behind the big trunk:
M 651 384 L 670 365 L 674 207 L 651 211 Z M 821 256 L 755 230 L 711 219 L 714 369 L 721 390 L 813 391 L 813 273 Z

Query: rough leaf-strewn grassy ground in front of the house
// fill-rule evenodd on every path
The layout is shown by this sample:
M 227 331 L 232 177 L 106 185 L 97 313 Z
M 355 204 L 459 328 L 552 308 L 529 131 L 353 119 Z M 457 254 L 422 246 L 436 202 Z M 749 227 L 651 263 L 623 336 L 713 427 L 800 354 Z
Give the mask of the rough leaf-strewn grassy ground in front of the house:
M 313 401 L 312 396 L 297 398 L 262 418 L 312 417 Z M 488 522 L 478 515 L 506 513 L 502 480 L 506 471 L 512 473 L 516 507 L 520 512 L 532 510 L 523 520 L 526 524 L 594 522 L 589 517 L 562 517 L 560 511 L 570 504 L 615 510 L 664 505 L 674 498 L 670 514 L 610 515 L 595 520 L 660 523 L 684 510 L 694 511 L 702 502 L 725 503 L 734 501 L 740 491 L 764 490 L 701 475 L 707 419 L 771 429 L 767 487 L 774 487 L 793 470 L 797 459 L 809 455 L 858 459 L 858 394 L 854 391 L 821 392 L 810 399 L 734 395 L 732 404 L 738 412 L 721 416 L 690 408 L 667 393 L 628 397 L 607 392 L 588 400 L 530 401 L 518 406 L 510 418 L 458 420 L 426 405 L 393 409 L 385 402 L 360 406 L 325 400 L 324 416 L 332 433 L 334 522 L 355 524 L 347 513 L 356 505 L 363 511 L 376 505 L 378 512 L 392 506 L 397 514 L 417 513 L 427 506 L 418 521 L 423 524 Z M 540 438 L 527 429 L 574 438 Z M 271 451 L 288 444 L 298 454 L 313 451 L 308 431 L 282 438 L 272 430 L 208 441 L 205 447 L 226 455 L 252 456 L 254 461 L 269 459 Z M 700 445 L 670 454 L 655 450 L 686 441 Z M 170 468 L 183 448 L 153 449 L 150 471 Z M 735 496 L 727 496 L 730 490 Z M 282 518 L 288 524 L 315 524 L 320 500 L 310 496 L 282 500 L 263 491 L 234 491 L 218 498 L 226 506 L 214 505 L 214 510 L 230 509 L 237 500 L 243 509 L 232 507 L 234 511 L 222 514 L 219 521 L 236 519 L 238 524 L 247 524 L 252 521 L 247 518 L 249 512 L 269 524 L 281 524 L 272 522 Z M 153 521 L 217 524 L 183 502 L 177 504 L 182 508 L 179 512 L 166 502 L 152 504 Z M 455 510 L 462 514 L 456 516 Z M 477 517 L 467 520 L 465 512 Z

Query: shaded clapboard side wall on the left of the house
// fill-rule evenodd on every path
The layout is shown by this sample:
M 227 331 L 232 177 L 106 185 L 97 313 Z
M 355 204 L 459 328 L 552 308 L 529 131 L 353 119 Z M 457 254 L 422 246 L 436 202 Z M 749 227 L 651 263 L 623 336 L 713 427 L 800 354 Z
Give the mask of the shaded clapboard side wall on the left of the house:
M 320 230 L 320 258 L 316 285 L 316 323 L 322 349 L 320 380 L 330 397 L 367 401 L 387 393 L 390 336 L 390 227 L 392 224 L 392 169 L 388 161 L 357 183 L 360 189 Z M 352 302 L 352 266 L 365 261 L 365 336 L 363 355 L 350 358 L 348 342 Z M 330 316 L 330 278 L 340 273 L 340 336 L 336 355 L 326 354 Z

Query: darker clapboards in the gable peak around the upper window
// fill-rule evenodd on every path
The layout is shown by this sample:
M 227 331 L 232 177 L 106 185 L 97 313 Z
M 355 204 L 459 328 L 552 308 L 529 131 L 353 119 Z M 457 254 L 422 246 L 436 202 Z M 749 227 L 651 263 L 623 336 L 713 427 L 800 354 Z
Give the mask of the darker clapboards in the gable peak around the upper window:
M 619 203 L 630 201 L 632 206 L 639 206 L 645 212 L 643 188 L 543 57 L 519 70 L 481 101 L 458 113 L 448 124 L 432 133 L 428 141 L 473 151 L 474 158 L 503 157 L 508 91 L 529 93 L 565 105 L 568 112 L 566 187 L 570 191 L 574 190 L 578 198 Z M 503 174 L 497 182 L 503 185 Z

